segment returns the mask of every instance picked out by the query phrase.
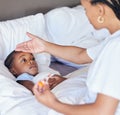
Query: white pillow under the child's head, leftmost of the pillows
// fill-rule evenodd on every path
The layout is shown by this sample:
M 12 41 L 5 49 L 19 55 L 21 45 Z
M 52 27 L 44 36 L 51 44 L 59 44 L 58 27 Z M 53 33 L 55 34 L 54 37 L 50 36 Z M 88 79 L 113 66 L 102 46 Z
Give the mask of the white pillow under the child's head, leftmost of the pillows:
M 47 39 L 45 33 L 45 20 L 42 13 L 0 22 L 0 59 L 4 60 L 20 42 L 30 38 L 26 32 Z M 38 63 L 49 65 L 50 55 L 46 53 L 35 55 Z

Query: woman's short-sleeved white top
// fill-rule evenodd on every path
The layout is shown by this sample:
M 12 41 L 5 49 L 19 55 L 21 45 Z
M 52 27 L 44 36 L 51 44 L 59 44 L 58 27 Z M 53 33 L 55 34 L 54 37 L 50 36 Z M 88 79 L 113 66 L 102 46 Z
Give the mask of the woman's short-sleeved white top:
M 100 45 L 87 49 L 94 60 L 87 77 L 89 94 L 86 103 L 94 102 L 97 93 L 120 99 L 120 31 Z M 120 104 L 119 104 L 120 106 Z M 115 115 L 120 115 L 120 107 Z

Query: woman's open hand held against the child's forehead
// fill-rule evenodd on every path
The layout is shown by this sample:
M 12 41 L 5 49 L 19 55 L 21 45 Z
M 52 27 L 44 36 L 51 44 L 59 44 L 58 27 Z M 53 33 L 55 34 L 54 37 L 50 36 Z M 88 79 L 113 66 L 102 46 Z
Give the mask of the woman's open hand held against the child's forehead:
M 26 33 L 31 40 L 20 43 L 16 46 L 16 51 L 30 52 L 30 53 L 41 53 L 45 51 L 45 41 L 38 36 L 31 33 Z

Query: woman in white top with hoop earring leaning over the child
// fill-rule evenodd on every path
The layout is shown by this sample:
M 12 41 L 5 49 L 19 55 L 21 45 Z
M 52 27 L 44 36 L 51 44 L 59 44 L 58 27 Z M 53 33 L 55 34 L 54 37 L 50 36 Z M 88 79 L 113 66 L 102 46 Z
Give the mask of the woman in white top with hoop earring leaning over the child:
M 85 104 L 63 103 L 46 85 L 36 84 L 34 93 L 41 103 L 65 115 L 120 115 L 120 0 L 80 1 L 93 26 L 107 28 L 112 34 L 101 44 L 88 49 L 60 46 L 28 34 L 32 39 L 18 45 L 16 50 L 48 52 L 78 64 L 92 62 L 86 81 Z

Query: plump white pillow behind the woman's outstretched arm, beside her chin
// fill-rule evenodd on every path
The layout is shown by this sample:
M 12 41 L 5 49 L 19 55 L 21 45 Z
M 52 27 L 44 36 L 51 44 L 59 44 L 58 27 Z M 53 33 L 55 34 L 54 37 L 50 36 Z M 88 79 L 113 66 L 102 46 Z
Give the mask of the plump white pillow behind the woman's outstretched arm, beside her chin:
M 45 14 L 45 20 L 49 40 L 61 45 L 88 48 L 110 34 L 107 29 L 95 30 L 81 5 L 53 9 Z M 81 66 L 57 57 L 56 59 L 66 65 Z

